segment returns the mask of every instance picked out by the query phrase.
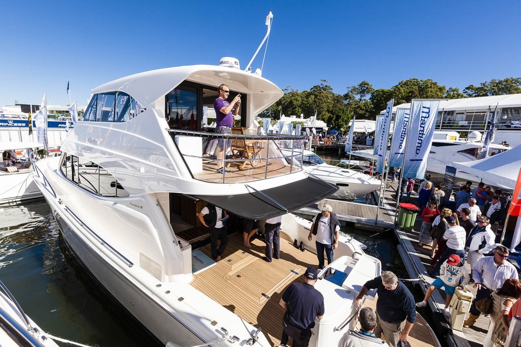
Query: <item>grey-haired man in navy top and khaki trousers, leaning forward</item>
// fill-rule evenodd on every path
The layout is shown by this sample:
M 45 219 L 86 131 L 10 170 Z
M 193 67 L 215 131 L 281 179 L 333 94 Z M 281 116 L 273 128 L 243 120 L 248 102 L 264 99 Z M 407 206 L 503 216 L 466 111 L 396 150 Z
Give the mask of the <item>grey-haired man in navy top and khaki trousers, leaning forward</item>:
M 356 296 L 358 306 L 362 305 L 362 298 L 369 289 L 376 289 L 378 293 L 375 336 L 379 338 L 383 331 L 386 342 L 392 347 L 400 340 L 407 341 L 416 320 L 413 294 L 391 271 L 383 271 L 380 277 L 364 284 Z

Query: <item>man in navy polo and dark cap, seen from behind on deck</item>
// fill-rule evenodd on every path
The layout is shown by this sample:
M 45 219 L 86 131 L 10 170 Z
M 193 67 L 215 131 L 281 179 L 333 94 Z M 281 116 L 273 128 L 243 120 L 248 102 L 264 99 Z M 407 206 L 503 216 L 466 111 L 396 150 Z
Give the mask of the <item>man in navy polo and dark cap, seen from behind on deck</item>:
M 308 267 L 304 283 L 292 283 L 282 294 L 279 304 L 286 309 L 286 314 L 282 318 L 281 346 L 292 337 L 293 347 L 307 347 L 315 317 L 320 320 L 324 316 L 324 296 L 314 288 L 317 278 L 318 271 Z

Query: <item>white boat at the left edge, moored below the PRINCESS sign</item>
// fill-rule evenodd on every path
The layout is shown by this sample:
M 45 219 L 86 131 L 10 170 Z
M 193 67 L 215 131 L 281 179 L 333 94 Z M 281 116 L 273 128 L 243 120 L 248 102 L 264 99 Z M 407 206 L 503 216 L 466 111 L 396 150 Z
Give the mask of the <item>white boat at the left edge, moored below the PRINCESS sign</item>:
M 0 205 L 38 199 L 43 197 L 29 173 L 28 152 L 43 147 L 37 142 L 1 142 L 0 152 L 14 150 L 19 162 L 13 166 L 4 166 L 0 163 Z M 25 153 L 24 153 L 25 152 Z

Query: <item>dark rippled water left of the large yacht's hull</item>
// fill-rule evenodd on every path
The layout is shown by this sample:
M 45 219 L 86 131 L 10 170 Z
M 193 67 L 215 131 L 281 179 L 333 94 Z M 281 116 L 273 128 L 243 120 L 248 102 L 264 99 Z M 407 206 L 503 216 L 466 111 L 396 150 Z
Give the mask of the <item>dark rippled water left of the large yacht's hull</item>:
M 44 331 L 89 345 L 156 345 L 69 254 L 44 200 L 0 215 L 0 280 Z

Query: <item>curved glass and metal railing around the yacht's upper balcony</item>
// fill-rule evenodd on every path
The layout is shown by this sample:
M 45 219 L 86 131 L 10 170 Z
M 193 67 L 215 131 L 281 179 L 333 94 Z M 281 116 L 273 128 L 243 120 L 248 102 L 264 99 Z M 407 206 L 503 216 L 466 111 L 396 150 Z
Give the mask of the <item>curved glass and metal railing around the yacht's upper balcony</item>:
M 242 183 L 302 170 L 304 138 L 292 135 L 251 135 L 169 130 L 194 179 Z M 229 147 L 226 153 L 219 151 Z M 224 167 L 224 168 L 223 168 Z

